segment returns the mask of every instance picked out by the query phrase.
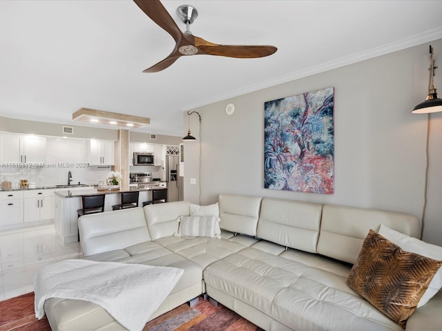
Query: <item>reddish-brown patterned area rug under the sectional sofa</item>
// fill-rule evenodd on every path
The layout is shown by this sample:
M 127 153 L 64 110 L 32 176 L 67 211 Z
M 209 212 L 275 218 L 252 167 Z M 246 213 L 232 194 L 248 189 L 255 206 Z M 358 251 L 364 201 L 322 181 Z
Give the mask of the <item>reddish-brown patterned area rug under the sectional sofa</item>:
M 0 301 L 0 331 L 50 331 L 46 317 L 35 318 L 34 293 Z M 149 321 L 143 331 L 260 331 L 240 315 L 222 305 L 213 307 L 200 297 L 200 303 L 190 308 L 187 303 Z

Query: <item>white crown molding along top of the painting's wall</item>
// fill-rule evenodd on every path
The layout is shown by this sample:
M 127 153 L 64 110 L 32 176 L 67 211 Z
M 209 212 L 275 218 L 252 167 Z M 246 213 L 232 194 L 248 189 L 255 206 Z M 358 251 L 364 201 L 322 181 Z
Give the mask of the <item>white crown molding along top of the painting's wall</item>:
M 236 90 L 235 92 L 230 92 L 226 94 L 220 94 L 211 99 L 202 100 L 198 103 L 192 103 L 180 108 L 180 110 L 188 111 L 195 108 L 199 108 L 202 106 L 209 105 L 211 103 L 215 103 L 218 101 L 223 101 L 226 99 L 231 99 L 233 97 L 238 97 L 242 94 L 247 94 L 250 92 L 256 92 L 258 90 L 262 90 L 264 88 L 270 88 L 271 86 L 276 86 L 281 83 L 287 83 L 289 81 L 295 81 L 296 79 L 301 79 L 304 77 L 309 77 L 314 74 L 319 74 L 321 72 L 326 72 L 328 70 L 340 68 L 343 66 L 348 66 L 349 64 L 358 63 L 361 61 L 365 61 L 367 59 L 373 59 L 374 57 L 380 57 L 381 55 L 389 54 L 392 52 L 397 52 L 398 50 L 403 50 L 405 48 L 410 48 L 413 46 L 421 45 L 423 43 L 427 43 L 429 41 L 434 41 L 436 39 L 442 38 L 442 28 L 436 28 L 434 30 L 428 30 L 426 32 L 420 34 L 414 34 L 411 37 L 407 37 L 405 39 L 400 39 L 398 41 L 394 41 L 393 43 L 388 43 L 382 46 L 378 46 L 376 48 L 372 48 L 370 50 L 364 52 L 358 52 L 355 54 L 350 54 L 346 57 L 341 57 L 340 59 L 334 61 L 328 61 L 325 63 L 320 63 L 317 66 L 306 68 L 305 70 L 298 70 L 296 72 L 291 72 L 289 74 L 285 74 L 283 76 L 277 77 L 276 79 L 271 79 L 269 81 L 263 81 L 258 84 L 253 84 L 251 86 L 247 86 L 240 90 Z

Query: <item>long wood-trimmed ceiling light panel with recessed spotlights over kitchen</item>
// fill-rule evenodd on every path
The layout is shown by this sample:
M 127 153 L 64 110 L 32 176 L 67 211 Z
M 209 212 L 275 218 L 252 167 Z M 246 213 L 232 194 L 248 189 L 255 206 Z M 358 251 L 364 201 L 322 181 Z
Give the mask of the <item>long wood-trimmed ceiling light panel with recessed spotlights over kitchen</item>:
M 151 119 L 147 117 L 137 117 L 89 108 L 80 108 L 72 114 L 72 119 L 78 122 L 99 122 L 106 126 L 124 126 L 131 128 L 144 128 L 144 126 L 148 126 L 151 123 Z

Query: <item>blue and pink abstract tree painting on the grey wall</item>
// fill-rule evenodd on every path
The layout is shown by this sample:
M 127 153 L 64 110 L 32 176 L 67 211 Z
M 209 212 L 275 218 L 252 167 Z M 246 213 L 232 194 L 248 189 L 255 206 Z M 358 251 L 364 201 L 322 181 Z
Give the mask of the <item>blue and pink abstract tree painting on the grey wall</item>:
M 333 194 L 334 88 L 265 102 L 264 187 Z

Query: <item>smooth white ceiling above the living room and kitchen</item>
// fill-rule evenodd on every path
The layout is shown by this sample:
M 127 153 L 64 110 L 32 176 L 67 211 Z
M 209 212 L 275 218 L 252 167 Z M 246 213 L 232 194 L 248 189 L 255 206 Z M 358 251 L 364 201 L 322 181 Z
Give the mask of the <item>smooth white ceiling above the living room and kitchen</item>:
M 162 3 L 182 30 L 176 8 L 195 6 L 191 31 L 207 41 L 278 51 L 181 57 L 144 74 L 175 42 L 133 1 L 2 0 L 0 116 L 74 125 L 73 112 L 93 108 L 150 117 L 140 131 L 181 136 L 183 110 L 442 37 L 442 1 Z

